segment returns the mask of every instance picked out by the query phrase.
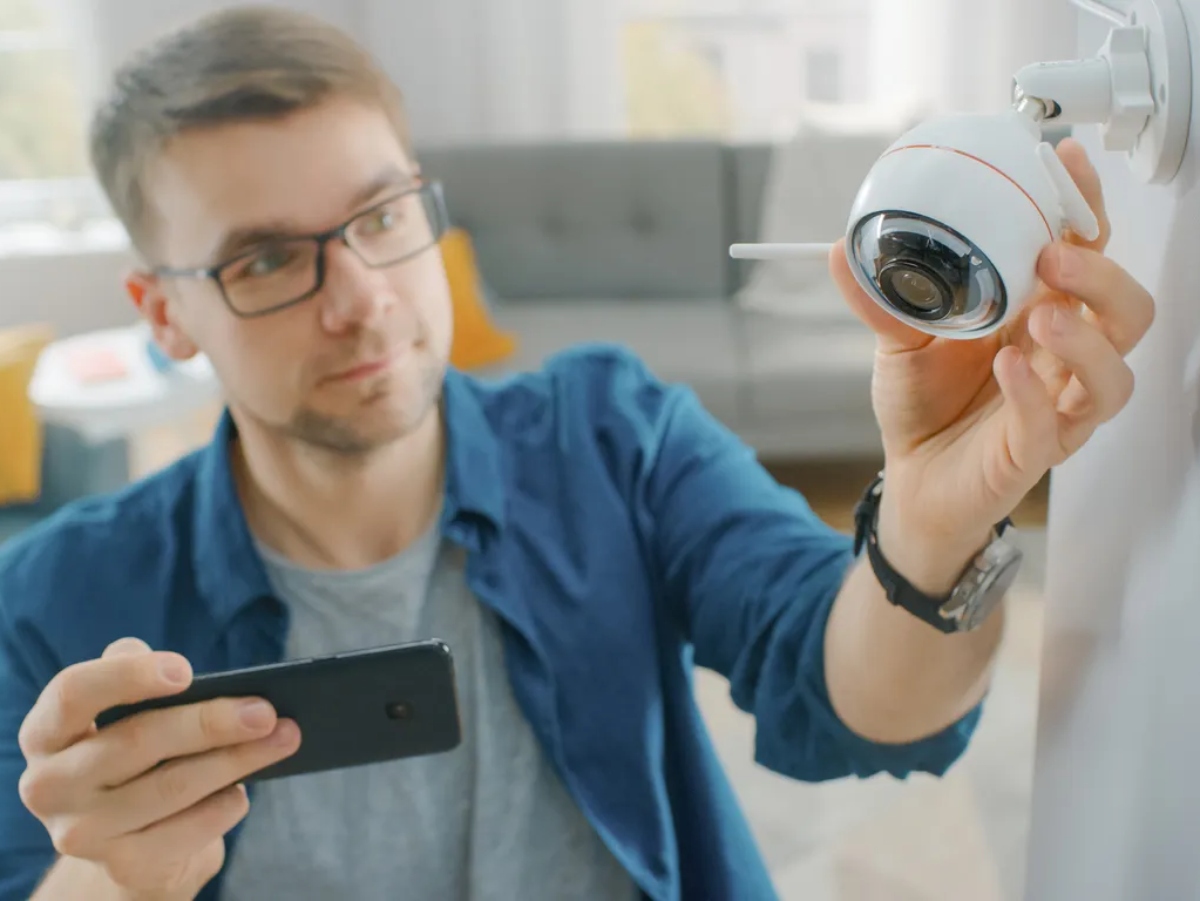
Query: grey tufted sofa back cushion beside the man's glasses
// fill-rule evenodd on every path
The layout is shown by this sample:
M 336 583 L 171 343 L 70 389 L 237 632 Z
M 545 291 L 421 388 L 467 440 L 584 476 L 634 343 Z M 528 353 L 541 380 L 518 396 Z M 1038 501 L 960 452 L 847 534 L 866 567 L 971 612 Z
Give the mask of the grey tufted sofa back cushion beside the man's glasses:
M 715 142 L 422 148 L 450 218 L 503 299 L 720 296 L 728 290 Z

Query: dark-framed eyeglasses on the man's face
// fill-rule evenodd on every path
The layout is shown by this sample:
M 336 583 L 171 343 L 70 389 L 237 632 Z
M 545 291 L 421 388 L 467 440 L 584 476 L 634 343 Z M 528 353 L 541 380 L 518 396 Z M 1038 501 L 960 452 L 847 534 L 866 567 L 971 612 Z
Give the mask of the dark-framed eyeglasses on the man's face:
M 344 241 L 367 266 L 384 269 L 433 247 L 446 233 L 449 220 L 442 184 L 426 181 L 328 232 L 263 241 L 209 268 L 157 266 L 154 272 L 211 278 L 234 314 L 265 316 L 320 290 L 325 283 L 325 245 L 330 241 Z

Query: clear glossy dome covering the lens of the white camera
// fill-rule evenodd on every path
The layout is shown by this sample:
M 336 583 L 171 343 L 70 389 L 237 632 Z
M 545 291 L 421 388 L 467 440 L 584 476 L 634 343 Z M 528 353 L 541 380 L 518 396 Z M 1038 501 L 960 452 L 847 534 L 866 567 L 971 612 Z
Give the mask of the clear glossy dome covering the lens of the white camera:
M 899 313 L 973 331 L 1004 316 L 1004 282 L 988 257 L 926 216 L 881 211 L 859 221 L 851 259 Z

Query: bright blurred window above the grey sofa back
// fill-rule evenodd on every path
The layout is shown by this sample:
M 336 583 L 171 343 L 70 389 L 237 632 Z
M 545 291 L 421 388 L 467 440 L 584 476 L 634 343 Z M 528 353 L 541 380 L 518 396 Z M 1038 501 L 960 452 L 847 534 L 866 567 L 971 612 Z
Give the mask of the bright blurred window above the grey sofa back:
M 1006 0 L 619 6 L 628 137 L 779 140 L 806 120 L 872 128 L 990 112 L 1007 103 L 1013 67 L 1025 61 L 1020 36 L 1042 25 Z M 989 36 L 984 50 L 978 34 Z M 1061 43 L 1073 47 L 1074 35 Z

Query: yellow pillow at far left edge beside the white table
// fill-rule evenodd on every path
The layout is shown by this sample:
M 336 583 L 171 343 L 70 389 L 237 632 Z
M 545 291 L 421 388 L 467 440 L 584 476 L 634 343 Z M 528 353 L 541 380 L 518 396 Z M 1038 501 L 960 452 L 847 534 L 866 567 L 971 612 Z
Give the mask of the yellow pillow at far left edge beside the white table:
M 0 504 L 25 504 L 42 493 L 42 424 L 29 383 L 49 325 L 0 330 Z

